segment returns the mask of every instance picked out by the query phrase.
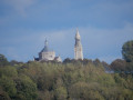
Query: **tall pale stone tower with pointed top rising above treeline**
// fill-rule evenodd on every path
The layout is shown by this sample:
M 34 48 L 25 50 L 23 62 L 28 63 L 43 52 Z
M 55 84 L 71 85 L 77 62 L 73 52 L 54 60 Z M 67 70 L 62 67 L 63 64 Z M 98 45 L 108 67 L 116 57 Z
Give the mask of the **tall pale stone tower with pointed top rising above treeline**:
M 76 33 L 75 33 L 74 59 L 75 60 L 79 60 L 79 59 L 83 60 L 83 50 L 82 50 L 82 44 L 81 44 L 81 37 L 80 37 L 78 29 L 76 29 Z

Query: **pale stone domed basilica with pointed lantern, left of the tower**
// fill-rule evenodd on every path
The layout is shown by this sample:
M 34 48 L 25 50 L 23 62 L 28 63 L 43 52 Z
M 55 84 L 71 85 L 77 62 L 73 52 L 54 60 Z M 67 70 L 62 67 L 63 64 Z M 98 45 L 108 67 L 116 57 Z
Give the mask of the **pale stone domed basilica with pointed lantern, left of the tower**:
M 48 41 L 44 42 L 44 48 L 39 52 L 39 58 L 34 58 L 34 61 L 57 61 L 62 62 L 60 57 L 55 57 L 55 52 L 50 50 L 48 47 Z

